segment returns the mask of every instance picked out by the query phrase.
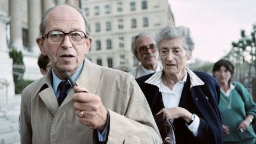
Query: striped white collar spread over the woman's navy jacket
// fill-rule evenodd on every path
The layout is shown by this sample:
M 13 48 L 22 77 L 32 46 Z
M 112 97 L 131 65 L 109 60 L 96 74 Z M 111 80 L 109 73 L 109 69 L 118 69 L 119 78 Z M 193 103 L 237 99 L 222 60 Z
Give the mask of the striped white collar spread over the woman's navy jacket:
M 190 88 L 197 86 L 197 85 L 204 85 L 204 82 L 190 69 L 186 68 L 188 75 L 190 76 Z M 160 88 L 161 78 L 162 78 L 162 71 L 155 72 L 149 79 L 145 81 L 147 84 L 155 85 L 156 87 Z M 182 81 L 186 81 L 187 73 L 185 74 Z

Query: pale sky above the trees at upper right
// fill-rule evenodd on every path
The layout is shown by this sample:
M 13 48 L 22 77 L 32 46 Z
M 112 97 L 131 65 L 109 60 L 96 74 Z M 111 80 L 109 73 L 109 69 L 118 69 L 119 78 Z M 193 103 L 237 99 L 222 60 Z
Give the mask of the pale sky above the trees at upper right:
M 169 0 L 176 25 L 190 27 L 193 59 L 215 62 L 231 50 L 241 29 L 251 33 L 256 0 Z

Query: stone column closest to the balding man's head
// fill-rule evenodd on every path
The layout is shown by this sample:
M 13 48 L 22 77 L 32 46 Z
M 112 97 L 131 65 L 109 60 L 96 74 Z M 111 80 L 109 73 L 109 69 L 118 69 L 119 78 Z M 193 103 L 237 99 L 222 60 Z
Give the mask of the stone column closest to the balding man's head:
M 40 0 L 28 0 L 28 46 L 29 51 L 39 54 L 40 50 L 36 43 L 39 37 L 39 25 L 41 20 Z

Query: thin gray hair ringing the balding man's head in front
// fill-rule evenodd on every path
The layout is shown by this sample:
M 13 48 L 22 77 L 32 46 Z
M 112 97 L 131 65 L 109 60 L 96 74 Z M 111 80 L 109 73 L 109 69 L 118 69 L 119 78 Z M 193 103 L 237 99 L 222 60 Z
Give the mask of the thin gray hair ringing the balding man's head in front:
M 65 5 L 67 5 L 67 4 L 65 4 Z M 42 16 L 42 18 L 41 18 L 40 26 L 39 26 L 39 30 L 40 30 L 41 36 L 43 36 L 43 35 L 45 34 L 47 15 L 48 15 L 53 9 L 55 9 L 56 7 L 59 7 L 59 6 L 60 6 L 60 5 L 53 6 L 53 7 L 49 8 L 49 9 L 47 9 L 46 12 L 44 12 L 44 14 L 43 14 L 43 16 Z M 89 23 L 88 23 L 88 21 L 87 21 L 87 18 L 85 17 L 85 12 L 82 11 L 81 9 L 79 9 L 79 8 L 73 7 L 72 5 L 68 5 L 68 6 L 70 6 L 70 7 L 72 7 L 72 8 L 75 8 L 76 11 L 78 11 L 78 12 L 82 15 L 82 17 L 84 18 L 84 21 L 85 21 L 85 30 L 86 30 L 86 31 L 85 31 L 85 34 L 86 34 L 87 36 L 89 36 L 91 28 L 90 28 L 90 26 L 89 26 Z

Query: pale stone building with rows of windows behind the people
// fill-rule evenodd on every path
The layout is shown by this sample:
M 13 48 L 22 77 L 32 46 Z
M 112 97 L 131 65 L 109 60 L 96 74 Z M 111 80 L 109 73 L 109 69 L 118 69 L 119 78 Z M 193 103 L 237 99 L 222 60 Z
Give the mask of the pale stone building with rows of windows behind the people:
M 155 34 L 174 25 L 167 0 L 81 0 L 93 38 L 88 58 L 98 65 L 130 71 L 139 63 L 131 51 L 136 34 Z

